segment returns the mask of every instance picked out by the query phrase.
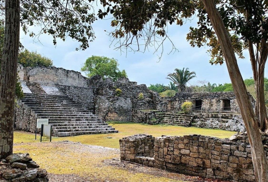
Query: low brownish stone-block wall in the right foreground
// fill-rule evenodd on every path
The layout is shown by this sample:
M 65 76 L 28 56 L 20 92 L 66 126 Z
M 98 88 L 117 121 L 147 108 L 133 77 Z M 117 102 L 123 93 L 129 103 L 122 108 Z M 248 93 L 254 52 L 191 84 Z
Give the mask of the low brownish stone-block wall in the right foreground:
M 201 135 L 154 138 L 140 134 L 119 143 L 124 161 L 212 179 L 255 181 L 250 145 L 245 142 Z M 153 157 L 150 148 L 154 148 Z

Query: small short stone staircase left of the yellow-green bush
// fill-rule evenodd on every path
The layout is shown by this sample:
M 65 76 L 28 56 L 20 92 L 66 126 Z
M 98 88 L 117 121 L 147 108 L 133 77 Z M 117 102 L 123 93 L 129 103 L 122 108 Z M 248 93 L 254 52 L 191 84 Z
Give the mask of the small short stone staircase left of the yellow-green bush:
M 160 120 L 160 122 L 158 122 L 159 124 L 189 127 L 191 126 L 191 122 L 193 120 L 193 116 L 190 114 L 166 112 L 162 113 L 161 116 L 162 119 Z

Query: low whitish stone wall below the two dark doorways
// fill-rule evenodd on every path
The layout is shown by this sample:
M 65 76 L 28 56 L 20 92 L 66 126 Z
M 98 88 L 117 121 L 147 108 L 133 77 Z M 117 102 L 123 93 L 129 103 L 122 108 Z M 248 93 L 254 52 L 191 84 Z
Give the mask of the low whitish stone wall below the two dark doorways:
M 214 128 L 228 131 L 245 132 L 245 125 L 240 114 L 230 113 L 196 113 L 192 115 L 192 126 L 199 128 Z

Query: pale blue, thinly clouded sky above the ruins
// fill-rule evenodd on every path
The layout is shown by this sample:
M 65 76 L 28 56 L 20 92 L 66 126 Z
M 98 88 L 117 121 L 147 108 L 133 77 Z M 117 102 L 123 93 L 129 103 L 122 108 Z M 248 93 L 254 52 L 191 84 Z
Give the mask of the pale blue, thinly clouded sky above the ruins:
M 121 52 L 115 50 L 114 43 L 110 41 L 107 32 L 112 31 L 110 20 L 97 20 L 92 24 L 96 39 L 90 42 L 86 50 L 78 50 L 79 42 L 66 38 L 65 41 L 57 40 L 57 45 L 53 45 L 53 38 L 50 35 L 42 34 L 39 40 L 33 39 L 29 35 L 20 33 L 20 41 L 24 48 L 30 51 L 37 51 L 53 60 L 55 67 L 65 68 L 67 70 L 80 71 L 83 63 L 88 57 L 106 56 L 118 60 L 119 69 L 125 70 L 130 81 L 138 84 L 164 84 L 168 85 L 166 79 L 168 73 L 173 73 L 175 68 L 189 68 L 189 71 L 196 72 L 196 78 L 193 78 L 189 85 L 201 85 L 200 82 L 224 84 L 230 83 L 230 77 L 226 64 L 211 65 L 209 63 L 210 55 L 206 53 L 207 47 L 192 48 L 186 40 L 190 26 L 195 26 L 196 21 L 188 21 L 183 26 L 172 25 L 168 27 L 168 36 L 172 40 L 178 51 L 170 53 L 172 43 L 164 42 L 164 50 L 159 60 L 160 52 L 154 53 L 154 48 L 149 48 L 143 52 Z M 40 27 L 31 27 L 30 30 L 38 31 Z M 106 31 L 104 31 L 106 30 Z M 238 59 L 238 65 L 243 79 L 253 77 L 251 63 L 248 52 L 244 52 L 245 59 Z M 266 64 L 267 67 L 267 64 Z M 81 72 L 85 76 L 84 72 Z M 267 71 L 265 77 L 267 77 Z

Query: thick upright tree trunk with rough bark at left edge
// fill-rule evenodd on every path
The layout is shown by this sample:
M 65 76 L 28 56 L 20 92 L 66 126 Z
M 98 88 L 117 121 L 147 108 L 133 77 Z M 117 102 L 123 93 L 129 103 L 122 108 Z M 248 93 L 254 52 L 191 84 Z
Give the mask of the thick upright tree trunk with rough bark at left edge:
M 0 159 L 13 152 L 15 83 L 20 35 L 20 1 L 5 1 L 5 38 L 0 75 Z

